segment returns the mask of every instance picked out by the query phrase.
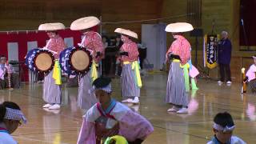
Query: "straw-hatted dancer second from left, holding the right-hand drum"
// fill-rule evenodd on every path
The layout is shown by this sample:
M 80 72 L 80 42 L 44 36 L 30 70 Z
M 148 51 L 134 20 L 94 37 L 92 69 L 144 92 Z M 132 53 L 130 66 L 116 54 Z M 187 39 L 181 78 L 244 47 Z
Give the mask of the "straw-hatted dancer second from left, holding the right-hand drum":
M 98 18 L 90 16 L 79 18 L 72 22 L 70 26 L 71 30 L 82 30 L 84 38 L 82 38 L 82 42 L 78 43 L 78 45 L 91 50 L 93 56 L 93 64 L 90 71 L 82 75 L 78 87 L 78 106 L 83 110 L 90 109 L 91 106 L 98 102 L 94 92 L 90 93 L 90 89 L 92 89 L 92 82 L 98 78 L 98 62 L 104 56 L 102 37 L 97 32 L 91 30 L 92 27 L 97 26 L 99 23 Z

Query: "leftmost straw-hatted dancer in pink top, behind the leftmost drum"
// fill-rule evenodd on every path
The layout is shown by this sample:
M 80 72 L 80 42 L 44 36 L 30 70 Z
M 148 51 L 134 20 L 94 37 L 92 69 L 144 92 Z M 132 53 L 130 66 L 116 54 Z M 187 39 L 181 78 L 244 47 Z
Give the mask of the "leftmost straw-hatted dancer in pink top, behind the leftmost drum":
M 50 38 L 43 49 L 51 51 L 55 58 L 54 70 L 46 74 L 43 83 L 43 100 L 47 102 L 47 104 L 42 107 L 49 108 L 50 110 L 60 109 L 62 100 L 61 70 L 58 57 L 66 46 L 63 38 L 58 35 L 58 30 L 63 29 L 65 29 L 65 26 L 62 23 L 45 23 L 38 27 L 38 30 L 46 31 Z

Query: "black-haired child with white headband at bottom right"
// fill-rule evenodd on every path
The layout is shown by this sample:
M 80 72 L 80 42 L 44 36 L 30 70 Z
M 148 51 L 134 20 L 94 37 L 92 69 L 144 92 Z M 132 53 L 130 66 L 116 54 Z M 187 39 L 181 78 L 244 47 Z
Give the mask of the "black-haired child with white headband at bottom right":
M 233 136 L 235 125 L 232 116 L 227 113 L 218 113 L 214 117 L 214 138 L 207 144 L 245 144 L 241 138 Z

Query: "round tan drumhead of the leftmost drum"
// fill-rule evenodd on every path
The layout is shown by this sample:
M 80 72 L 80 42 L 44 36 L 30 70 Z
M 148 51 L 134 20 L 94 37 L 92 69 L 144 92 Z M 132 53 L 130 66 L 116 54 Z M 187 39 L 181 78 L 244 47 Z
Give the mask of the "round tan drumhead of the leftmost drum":
M 54 58 L 52 54 L 49 54 L 46 51 L 38 53 L 38 55 L 34 59 L 34 65 L 41 72 L 52 70 L 54 66 Z

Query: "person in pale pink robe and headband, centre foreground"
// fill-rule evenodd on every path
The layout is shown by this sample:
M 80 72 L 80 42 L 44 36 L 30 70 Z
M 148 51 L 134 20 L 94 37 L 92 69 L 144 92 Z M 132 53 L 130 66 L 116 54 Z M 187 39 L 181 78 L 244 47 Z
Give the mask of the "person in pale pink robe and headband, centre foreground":
M 98 102 L 83 116 L 78 144 L 100 144 L 115 135 L 126 138 L 129 143 L 140 144 L 153 132 L 146 118 L 111 98 L 110 78 L 97 78 L 90 93 L 96 94 Z

